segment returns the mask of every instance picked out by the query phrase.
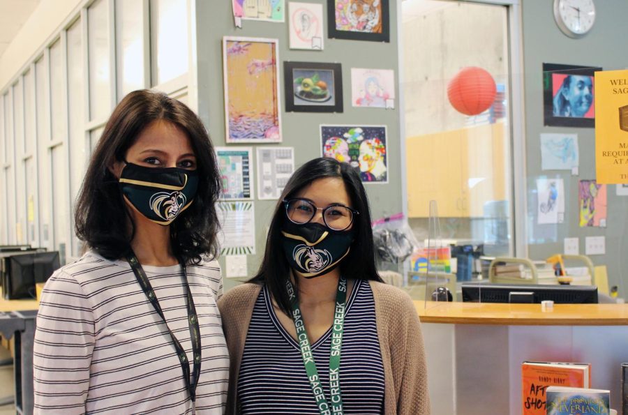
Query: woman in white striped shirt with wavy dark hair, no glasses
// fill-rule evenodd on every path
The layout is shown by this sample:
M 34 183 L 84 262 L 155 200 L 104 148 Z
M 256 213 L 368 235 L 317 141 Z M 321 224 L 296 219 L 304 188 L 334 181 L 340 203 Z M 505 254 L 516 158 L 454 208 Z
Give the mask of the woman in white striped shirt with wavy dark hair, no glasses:
M 220 173 L 198 117 L 135 91 L 112 113 L 75 210 L 87 252 L 47 281 L 35 411 L 222 414 Z

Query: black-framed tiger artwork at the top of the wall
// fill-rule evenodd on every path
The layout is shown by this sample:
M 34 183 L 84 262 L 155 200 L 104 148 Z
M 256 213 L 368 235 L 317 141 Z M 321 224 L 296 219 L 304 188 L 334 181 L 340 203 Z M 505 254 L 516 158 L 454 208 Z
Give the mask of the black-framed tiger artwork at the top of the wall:
M 388 0 L 327 0 L 329 38 L 389 42 Z

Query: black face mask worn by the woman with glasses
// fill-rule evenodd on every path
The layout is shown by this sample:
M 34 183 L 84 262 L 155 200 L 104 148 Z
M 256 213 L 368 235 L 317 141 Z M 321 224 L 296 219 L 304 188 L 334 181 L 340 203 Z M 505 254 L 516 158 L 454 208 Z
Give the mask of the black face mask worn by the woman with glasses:
M 353 243 L 352 231 L 334 231 L 320 223 L 297 225 L 286 220 L 281 233 L 285 257 L 292 269 L 305 278 L 333 271 Z

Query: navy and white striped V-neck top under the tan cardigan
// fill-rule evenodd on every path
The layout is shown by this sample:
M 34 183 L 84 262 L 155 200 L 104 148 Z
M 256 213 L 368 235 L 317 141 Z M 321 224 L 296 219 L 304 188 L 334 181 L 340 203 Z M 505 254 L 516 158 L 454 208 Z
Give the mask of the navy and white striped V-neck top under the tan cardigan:
M 312 345 L 329 402 L 331 328 Z M 345 414 L 382 414 L 384 365 L 375 303 L 368 282 L 357 280 L 347 299 L 340 384 Z M 238 379 L 241 414 L 318 415 L 297 341 L 276 317 L 266 287 L 255 302 Z

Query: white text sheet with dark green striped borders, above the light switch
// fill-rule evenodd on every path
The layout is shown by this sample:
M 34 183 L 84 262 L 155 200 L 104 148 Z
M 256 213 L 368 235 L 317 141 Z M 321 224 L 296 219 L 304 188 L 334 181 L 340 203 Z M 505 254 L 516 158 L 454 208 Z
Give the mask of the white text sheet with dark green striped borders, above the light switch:
M 253 202 L 220 202 L 216 208 L 220 221 L 220 255 L 255 255 Z

